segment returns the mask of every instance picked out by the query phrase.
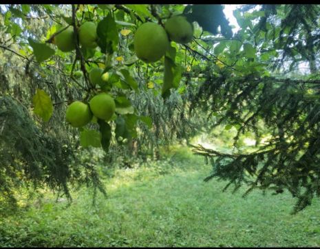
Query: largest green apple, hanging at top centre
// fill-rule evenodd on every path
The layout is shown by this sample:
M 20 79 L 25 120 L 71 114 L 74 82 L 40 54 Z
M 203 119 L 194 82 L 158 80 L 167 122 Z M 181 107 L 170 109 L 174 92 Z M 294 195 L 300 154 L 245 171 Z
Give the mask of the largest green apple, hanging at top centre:
M 167 32 L 157 23 L 143 23 L 134 34 L 136 55 L 146 63 L 160 60 L 168 48 Z

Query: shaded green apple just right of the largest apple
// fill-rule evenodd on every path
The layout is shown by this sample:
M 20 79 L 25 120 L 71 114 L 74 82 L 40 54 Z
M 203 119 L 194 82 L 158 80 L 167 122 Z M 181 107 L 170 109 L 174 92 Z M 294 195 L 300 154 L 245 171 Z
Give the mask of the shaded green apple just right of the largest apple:
M 169 18 L 164 28 L 169 38 L 176 43 L 186 44 L 192 40 L 193 25 L 182 15 Z

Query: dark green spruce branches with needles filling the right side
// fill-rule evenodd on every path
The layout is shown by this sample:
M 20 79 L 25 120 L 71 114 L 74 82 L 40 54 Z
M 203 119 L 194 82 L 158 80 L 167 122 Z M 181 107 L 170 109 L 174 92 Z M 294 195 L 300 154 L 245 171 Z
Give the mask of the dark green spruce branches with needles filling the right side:
M 286 66 L 285 59 L 292 57 L 290 51 L 297 50 L 296 54 L 301 54 L 301 57 L 295 57 L 294 62 L 299 64 L 300 61 L 308 61 L 310 71 L 314 72 L 312 66 L 316 66 L 314 56 L 317 43 L 310 44 L 307 41 L 308 46 L 296 45 L 303 42 L 301 37 L 315 41 L 319 24 L 314 20 L 319 17 L 319 7 L 290 5 L 278 8 L 262 8 L 265 11 L 277 10 L 278 14 L 284 11 L 283 16 L 278 15 L 278 19 L 274 20 L 279 21 L 279 17 L 282 17 L 281 26 L 277 27 L 279 35 L 276 35 L 275 43 L 271 45 L 282 50 L 279 51 L 282 52 L 282 57 L 274 65 Z M 259 32 L 262 26 L 266 25 L 266 20 L 268 19 L 262 18 L 255 27 L 259 28 Z M 301 32 L 299 39 L 296 38 L 298 30 Z M 273 34 L 275 35 L 275 29 Z M 262 48 L 267 41 L 269 40 L 263 40 Z M 303 57 L 303 54 L 309 55 Z M 292 197 L 297 197 L 293 213 L 310 205 L 314 196 L 320 196 L 319 83 L 316 75 L 300 80 L 261 77 L 257 73 L 244 77 L 207 75 L 194 96 L 193 108 L 209 108 L 210 115 L 217 117 L 213 126 L 227 123 L 237 128 L 237 135 L 234 138 L 235 148 L 232 154 L 200 145 L 193 146 L 196 154 L 211 159 L 213 172 L 205 181 L 213 177 L 226 179 L 229 181 L 226 188 L 233 184 L 234 190 L 245 183 L 249 188 L 244 196 L 255 188 L 264 191 L 271 189 L 275 194 L 287 189 Z M 263 139 L 266 131 L 262 130 L 262 126 L 267 129 L 268 139 Z M 239 135 L 249 130 L 255 132 L 257 146 L 257 150 L 251 153 L 237 148 Z

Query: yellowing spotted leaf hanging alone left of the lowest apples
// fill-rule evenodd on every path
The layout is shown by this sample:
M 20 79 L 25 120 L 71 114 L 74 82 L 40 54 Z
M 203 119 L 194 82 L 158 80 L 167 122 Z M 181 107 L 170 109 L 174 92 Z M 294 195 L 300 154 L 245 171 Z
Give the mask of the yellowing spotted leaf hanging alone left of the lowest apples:
M 32 97 L 34 113 L 39 115 L 43 121 L 49 121 L 53 112 L 53 105 L 50 96 L 41 89 L 36 89 L 36 94 Z

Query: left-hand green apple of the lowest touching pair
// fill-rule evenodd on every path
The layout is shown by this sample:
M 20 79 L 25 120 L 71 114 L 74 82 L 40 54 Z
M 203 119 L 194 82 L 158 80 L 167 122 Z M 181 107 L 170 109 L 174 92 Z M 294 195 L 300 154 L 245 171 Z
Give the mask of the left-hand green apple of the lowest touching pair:
M 74 101 L 67 107 L 65 119 L 73 127 L 85 126 L 92 119 L 92 112 L 86 103 Z

